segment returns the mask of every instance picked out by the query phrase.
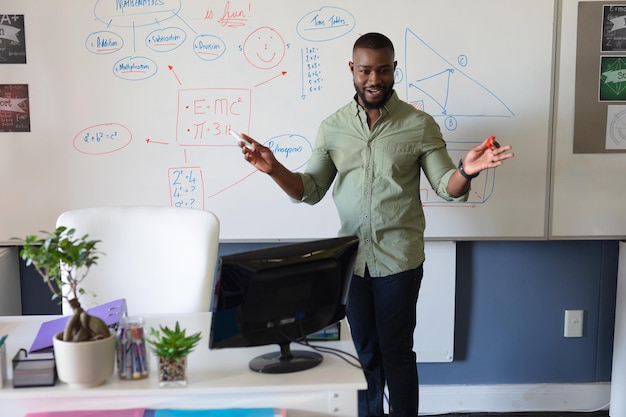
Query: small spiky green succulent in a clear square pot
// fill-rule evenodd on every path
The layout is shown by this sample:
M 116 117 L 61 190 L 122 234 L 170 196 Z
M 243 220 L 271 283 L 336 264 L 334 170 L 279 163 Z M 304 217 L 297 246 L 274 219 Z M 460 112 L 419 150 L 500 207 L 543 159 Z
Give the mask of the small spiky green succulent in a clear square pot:
M 178 321 L 174 329 L 150 328 L 146 342 L 157 356 L 160 387 L 187 385 L 187 356 L 196 348 L 200 337 L 200 332 L 187 335 Z

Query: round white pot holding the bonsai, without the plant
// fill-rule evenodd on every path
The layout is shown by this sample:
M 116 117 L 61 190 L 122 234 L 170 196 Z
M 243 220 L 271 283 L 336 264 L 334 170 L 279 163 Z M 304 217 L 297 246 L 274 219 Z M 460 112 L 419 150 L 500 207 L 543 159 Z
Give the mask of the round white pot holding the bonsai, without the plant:
M 89 342 L 65 342 L 63 333 L 52 340 L 59 380 L 73 388 L 102 385 L 115 367 L 115 335 Z

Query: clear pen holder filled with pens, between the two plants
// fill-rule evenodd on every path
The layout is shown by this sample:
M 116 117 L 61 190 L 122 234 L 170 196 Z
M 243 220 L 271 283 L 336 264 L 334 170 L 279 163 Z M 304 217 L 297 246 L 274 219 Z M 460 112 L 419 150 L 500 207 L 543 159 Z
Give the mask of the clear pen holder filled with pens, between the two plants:
M 148 376 L 148 355 L 143 318 L 123 317 L 117 330 L 117 373 L 120 379 L 143 379 Z

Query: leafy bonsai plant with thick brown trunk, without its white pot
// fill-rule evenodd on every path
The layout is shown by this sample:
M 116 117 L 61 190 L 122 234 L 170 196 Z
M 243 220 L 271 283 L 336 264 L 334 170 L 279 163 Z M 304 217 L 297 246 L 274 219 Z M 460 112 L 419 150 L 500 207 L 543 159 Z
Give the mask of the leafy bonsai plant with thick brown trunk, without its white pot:
M 89 240 L 88 235 L 75 237 L 75 229 L 59 226 L 53 233 L 42 232 L 43 237 L 27 236 L 20 251 L 26 265 L 33 265 L 46 283 L 52 299 L 66 301 L 73 310 L 68 320 L 63 340 L 82 342 L 109 337 L 106 323 L 91 316 L 80 305 L 78 296 L 84 294 L 81 283 L 89 269 L 97 264 L 99 240 Z

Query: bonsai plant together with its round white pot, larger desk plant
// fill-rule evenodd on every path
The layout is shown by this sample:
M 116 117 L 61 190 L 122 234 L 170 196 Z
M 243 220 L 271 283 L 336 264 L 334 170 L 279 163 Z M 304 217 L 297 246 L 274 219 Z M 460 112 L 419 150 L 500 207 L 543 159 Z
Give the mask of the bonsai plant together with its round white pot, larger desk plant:
M 102 319 L 89 315 L 78 299 L 85 292 L 81 283 L 99 259 L 99 241 L 88 235 L 76 237 L 75 230 L 65 226 L 42 233 L 45 236 L 24 239 L 20 257 L 41 275 L 52 299 L 67 302 L 73 310 L 65 330 L 52 341 L 59 379 L 79 387 L 100 385 L 113 374 L 115 335 Z

